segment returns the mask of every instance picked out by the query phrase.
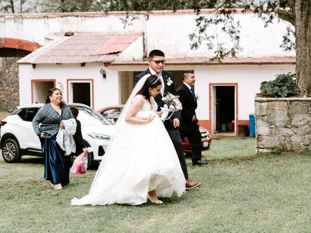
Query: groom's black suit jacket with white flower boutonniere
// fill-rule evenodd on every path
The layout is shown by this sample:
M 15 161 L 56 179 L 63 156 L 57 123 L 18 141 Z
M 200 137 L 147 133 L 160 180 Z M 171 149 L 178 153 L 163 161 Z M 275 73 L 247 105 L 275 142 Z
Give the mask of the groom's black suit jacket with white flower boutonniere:
M 134 86 L 146 74 L 151 74 L 149 68 L 135 76 Z M 163 78 L 163 82 L 164 82 L 164 83 L 162 83 L 162 85 L 164 85 L 164 95 L 167 94 L 168 92 L 172 93 L 173 95 L 177 95 L 177 90 L 176 90 L 175 80 L 174 80 L 173 74 L 171 72 L 163 70 L 162 71 L 162 78 Z M 167 80 L 169 78 L 173 81 L 172 85 L 170 85 L 170 86 L 167 85 Z M 161 94 L 159 94 L 155 97 L 155 102 L 156 102 L 157 107 L 158 107 L 157 111 L 161 111 L 160 107 L 163 107 L 163 105 L 164 105 L 164 103 L 162 101 L 162 95 Z M 174 112 L 172 117 L 169 120 L 166 120 L 164 122 L 164 126 L 166 129 L 173 128 L 173 119 L 174 118 L 178 118 L 180 120 L 180 111 Z

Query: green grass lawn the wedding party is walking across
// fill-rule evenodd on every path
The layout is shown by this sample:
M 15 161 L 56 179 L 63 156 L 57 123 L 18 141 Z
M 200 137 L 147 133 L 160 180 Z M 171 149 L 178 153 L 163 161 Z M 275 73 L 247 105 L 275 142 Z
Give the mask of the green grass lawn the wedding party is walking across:
M 310 232 L 311 156 L 241 157 L 253 155 L 254 144 L 214 140 L 204 153 L 209 165 L 189 164 L 190 178 L 202 185 L 163 205 L 70 206 L 87 194 L 96 169 L 70 175 L 71 183 L 55 191 L 43 179 L 43 159 L 7 164 L 1 158 L 0 232 Z

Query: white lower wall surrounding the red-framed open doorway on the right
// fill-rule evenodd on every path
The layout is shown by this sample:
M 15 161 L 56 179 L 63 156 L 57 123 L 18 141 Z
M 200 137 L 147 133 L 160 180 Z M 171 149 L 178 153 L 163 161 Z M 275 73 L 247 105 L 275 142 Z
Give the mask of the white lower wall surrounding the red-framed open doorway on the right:
M 255 112 L 255 94 L 263 81 L 275 79 L 276 74 L 294 72 L 295 65 L 221 65 L 194 67 L 195 91 L 199 95 L 196 114 L 200 120 L 209 119 L 209 83 L 238 83 L 238 119 L 248 120 Z

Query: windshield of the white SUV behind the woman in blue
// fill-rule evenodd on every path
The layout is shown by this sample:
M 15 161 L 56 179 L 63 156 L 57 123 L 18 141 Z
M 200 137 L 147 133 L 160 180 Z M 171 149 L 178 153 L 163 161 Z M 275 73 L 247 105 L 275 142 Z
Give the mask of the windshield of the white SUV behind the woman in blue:
M 96 112 L 91 108 L 80 107 L 80 106 L 69 106 L 76 107 L 79 109 L 78 120 L 81 121 L 81 125 L 112 125 L 112 123 L 104 116 Z

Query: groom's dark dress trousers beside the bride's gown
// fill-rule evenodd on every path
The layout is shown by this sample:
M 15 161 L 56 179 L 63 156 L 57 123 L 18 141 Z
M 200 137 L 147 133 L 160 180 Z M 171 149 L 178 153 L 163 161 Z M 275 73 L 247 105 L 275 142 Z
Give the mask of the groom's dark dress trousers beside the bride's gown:
M 174 148 L 176 150 L 176 153 L 177 153 L 177 156 L 178 156 L 178 159 L 180 162 L 180 166 L 181 166 L 181 169 L 183 170 L 185 179 L 188 179 L 186 158 L 185 158 L 183 143 L 181 141 L 179 130 L 178 130 L 178 128 L 170 128 L 170 129 L 166 129 L 166 130 L 172 139 L 172 142 L 173 142 Z

